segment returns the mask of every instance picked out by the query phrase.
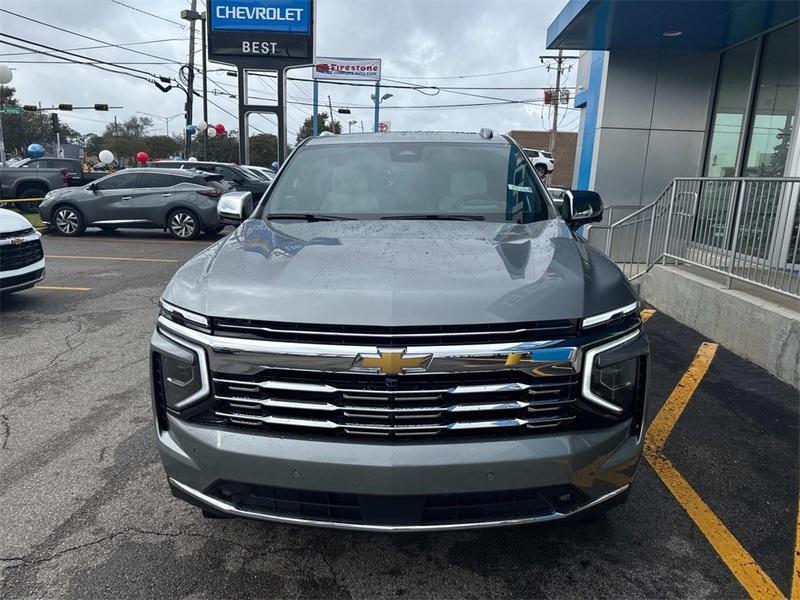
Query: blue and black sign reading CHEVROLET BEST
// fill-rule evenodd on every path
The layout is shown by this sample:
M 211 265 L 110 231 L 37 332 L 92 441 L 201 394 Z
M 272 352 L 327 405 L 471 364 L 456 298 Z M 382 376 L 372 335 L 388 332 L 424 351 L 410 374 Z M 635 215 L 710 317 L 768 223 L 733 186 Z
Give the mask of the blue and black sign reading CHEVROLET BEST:
M 280 69 L 314 57 L 313 0 L 209 0 L 208 58 Z

